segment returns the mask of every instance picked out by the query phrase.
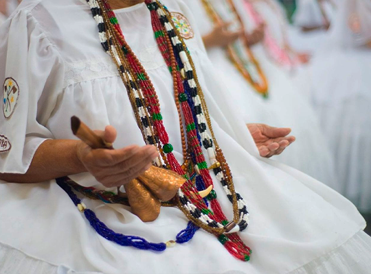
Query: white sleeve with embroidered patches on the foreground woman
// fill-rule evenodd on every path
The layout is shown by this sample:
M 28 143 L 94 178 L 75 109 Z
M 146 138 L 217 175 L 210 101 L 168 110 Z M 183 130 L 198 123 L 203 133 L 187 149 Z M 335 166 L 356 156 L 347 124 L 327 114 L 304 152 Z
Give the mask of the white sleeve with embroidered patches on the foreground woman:
M 47 121 L 62 92 L 63 60 L 27 10 L 0 29 L 0 173 L 25 173 L 53 134 Z

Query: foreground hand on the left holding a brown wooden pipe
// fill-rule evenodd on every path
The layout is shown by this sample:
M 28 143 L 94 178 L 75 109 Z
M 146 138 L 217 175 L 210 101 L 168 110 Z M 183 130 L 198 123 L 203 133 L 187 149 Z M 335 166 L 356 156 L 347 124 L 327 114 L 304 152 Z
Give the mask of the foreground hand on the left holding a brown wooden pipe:
M 114 127 L 107 126 L 103 131 L 95 131 L 106 142 L 113 143 L 117 133 Z M 107 188 L 122 186 L 131 182 L 152 165 L 159 153 L 155 146 L 139 147 L 131 145 L 123 149 L 91 149 L 84 142 L 76 146 L 78 160 L 101 184 Z

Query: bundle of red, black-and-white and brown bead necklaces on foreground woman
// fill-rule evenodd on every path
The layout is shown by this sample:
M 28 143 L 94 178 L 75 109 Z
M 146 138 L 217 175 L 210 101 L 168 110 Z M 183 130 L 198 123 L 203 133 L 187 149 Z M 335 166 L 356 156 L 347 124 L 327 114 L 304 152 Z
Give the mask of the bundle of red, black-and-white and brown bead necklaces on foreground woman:
M 91 8 L 93 18 L 98 24 L 102 47 L 113 58 L 120 72 L 120 77 L 126 86 L 137 125 L 142 131 L 144 141 L 147 144 L 157 146 L 161 153 L 161 158 L 155 160 L 154 164 L 171 169 L 187 179 L 187 182 L 179 189 L 175 203 L 186 214 L 190 223 L 187 229 L 177 235 L 177 242 L 190 240 L 197 227 L 201 227 L 205 231 L 216 235 L 234 257 L 240 260 L 249 260 L 251 249 L 235 233 L 243 231 L 247 227 L 249 216 L 247 203 L 234 190 L 232 174 L 212 131 L 210 116 L 196 77 L 192 58 L 183 38 L 181 38 L 170 19 L 170 13 L 159 1 L 145 1 L 148 10 L 150 10 L 157 45 L 166 64 L 168 64 L 174 82 L 175 102 L 181 122 L 185 160 L 183 165 L 177 162 L 172 153 L 173 148 L 162 121 L 155 88 L 135 53 L 126 43 L 109 3 L 106 0 L 87 0 L 87 3 Z M 186 125 L 186 134 L 184 134 L 182 127 L 183 122 Z M 212 137 L 207 132 L 210 132 Z M 212 164 L 209 168 L 207 168 L 202 146 L 207 150 Z M 214 190 L 207 199 L 203 199 L 198 194 L 199 190 L 213 186 L 210 169 L 214 171 L 233 205 L 234 219 L 231 222 L 227 221 L 223 214 Z M 83 193 L 89 192 L 90 196 L 97 195 L 95 190 L 85 191 L 84 188 L 81 190 L 76 185 L 74 188 Z M 74 201 L 74 197 L 71 195 L 70 197 Z M 101 195 L 95 197 L 95 199 L 101 199 L 102 197 Z M 114 199 L 110 197 L 109 202 L 112 200 Z M 211 209 L 209 209 L 209 203 Z M 185 234 L 188 236 L 185 236 Z M 183 236 L 183 240 L 181 236 Z M 185 237 L 186 239 L 184 239 Z M 157 246 L 155 247 L 157 248 Z M 163 245 L 161 248 L 163 248 Z

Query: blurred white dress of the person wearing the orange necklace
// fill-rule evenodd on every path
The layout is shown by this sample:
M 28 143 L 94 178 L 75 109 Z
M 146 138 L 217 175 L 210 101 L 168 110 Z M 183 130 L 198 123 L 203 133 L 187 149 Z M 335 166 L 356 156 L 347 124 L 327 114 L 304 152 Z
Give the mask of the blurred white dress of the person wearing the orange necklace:
M 201 1 L 192 0 L 189 3 L 192 3 L 189 6 L 195 14 L 201 35 L 210 33 L 213 24 Z M 216 8 L 217 5 L 223 5 L 222 1 L 218 0 L 213 0 L 212 3 Z M 236 4 L 242 4 L 242 1 L 236 1 Z M 236 7 L 243 9 L 241 5 L 236 5 Z M 223 10 L 223 8 L 218 10 Z M 246 17 L 245 14 L 241 15 Z M 333 156 L 319 128 L 315 113 L 309 102 L 300 94 L 302 90 L 293 85 L 293 80 L 284 69 L 267 57 L 262 45 L 256 45 L 253 49 L 267 75 L 269 98 L 263 99 L 251 88 L 251 85 L 229 61 L 224 49 L 212 48 L 207 51 L 207 54 L 227 86 L 225 93 L 234 100 L 238 115 L 245 123 L 266 123 L 276 127 L 291 127 L 292 134 L 297 140 L 282 155 L 275 156 L 274 159 L 293 166 L 336 190 L 337 178 Z

